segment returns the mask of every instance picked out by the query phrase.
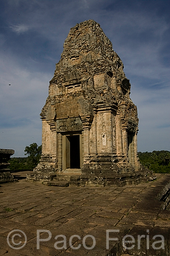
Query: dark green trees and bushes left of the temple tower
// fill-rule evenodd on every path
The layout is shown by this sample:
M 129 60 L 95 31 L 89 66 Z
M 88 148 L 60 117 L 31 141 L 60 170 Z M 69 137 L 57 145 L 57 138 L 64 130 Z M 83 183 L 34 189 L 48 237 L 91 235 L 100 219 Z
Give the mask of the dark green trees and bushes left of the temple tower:
M 31 145 L 25 147 L 25 155 L 28 155 L 24 158 L 11 158 L 10 159 L 10 169 L 12 171 L 18 170 L 33 170 L 41 157 L 41 145 L 38 146 L 37 143 L 32 143 Z

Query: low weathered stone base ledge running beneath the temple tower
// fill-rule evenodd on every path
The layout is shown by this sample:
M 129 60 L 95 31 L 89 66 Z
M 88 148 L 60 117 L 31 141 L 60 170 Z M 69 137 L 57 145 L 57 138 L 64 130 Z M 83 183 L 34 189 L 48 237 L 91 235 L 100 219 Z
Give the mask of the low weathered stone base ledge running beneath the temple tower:
M 155 179 L 156 177 L 152 173 L 148 173 L 148 171 L 121 174 L 105 173 L 103 175 L 38 172 L 27 174 L 28 181 L 42 182 L 50 186 L 126 186 L 127 184 L 139 184 Z

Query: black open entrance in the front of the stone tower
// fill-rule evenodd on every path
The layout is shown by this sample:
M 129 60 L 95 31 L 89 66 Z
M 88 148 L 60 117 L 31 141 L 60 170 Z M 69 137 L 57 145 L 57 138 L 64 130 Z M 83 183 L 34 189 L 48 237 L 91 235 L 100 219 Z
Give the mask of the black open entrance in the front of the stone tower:
M 69 137 L 70 141 L 70 168 L 80 169 L 80 135 Z

